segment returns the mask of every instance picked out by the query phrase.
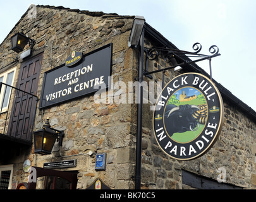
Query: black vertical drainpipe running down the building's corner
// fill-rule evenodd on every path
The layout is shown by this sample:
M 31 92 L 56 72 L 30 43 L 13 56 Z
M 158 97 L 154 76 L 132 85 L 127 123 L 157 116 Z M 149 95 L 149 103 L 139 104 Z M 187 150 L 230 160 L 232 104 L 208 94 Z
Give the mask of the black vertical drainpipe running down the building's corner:
M 140 37 L 139 66 L 138 66 L 138 107 L 137 107 L 137 141 L 136 141 L 136 167 L 135 189 L 140 189 L 142 173 L 142 102 L 143 102 L 143 61 L 144 61 L 144 28 Z

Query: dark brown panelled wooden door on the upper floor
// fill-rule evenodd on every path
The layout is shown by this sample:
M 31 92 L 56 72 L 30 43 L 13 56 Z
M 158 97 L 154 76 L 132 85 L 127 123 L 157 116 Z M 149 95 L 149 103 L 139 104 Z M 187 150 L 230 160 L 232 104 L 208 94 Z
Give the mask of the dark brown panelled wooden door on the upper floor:
M 21 63 L 16 88 L 37 95 L 42 58 L 43 54 L 39 54 Z M 37 98 L 28 93 L 18 92 L 17 90 L 15 92 L 9 118 L 8 135 L 31 141 Z

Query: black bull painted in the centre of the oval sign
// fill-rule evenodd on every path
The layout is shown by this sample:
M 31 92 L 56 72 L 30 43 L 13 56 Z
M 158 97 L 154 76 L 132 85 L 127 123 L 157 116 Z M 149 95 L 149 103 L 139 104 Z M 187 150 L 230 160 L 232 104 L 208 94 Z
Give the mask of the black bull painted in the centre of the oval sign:
M 169 135 L 196 131 L 198 124 L 205 124 L 207 105 L 167 105 L 164 114 L 164 124 Z

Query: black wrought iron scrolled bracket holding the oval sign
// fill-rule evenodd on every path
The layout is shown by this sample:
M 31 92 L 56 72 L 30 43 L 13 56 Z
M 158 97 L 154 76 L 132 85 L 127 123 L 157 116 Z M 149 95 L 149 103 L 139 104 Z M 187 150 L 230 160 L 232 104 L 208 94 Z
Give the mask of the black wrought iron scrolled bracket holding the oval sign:
M 213 57 L 221 56 L 221 54 L 219 54 L 219 48 L 216 45 L 210 46 L 209 52 L 211 55 L 200 54 L 199 52 L 202 50 L 202 45 L 199 43 L 193 44 L 193 50 L 195 50 L 195 52 L 189 52 L 186 50 L 179 50 L 179 49 L 162 48 L 162 47 L 151 47 L 151 48 L 145 48 L 144 50 L 146 52 L 147 59 L 149 59 L 149 60 L 154 60 L 157 57 L 161 56 L 165 62 L 167 62 L 167 63 L 171 62 L 173 64 L 173 66 L 169 66 L 168 68 L 157 69 L 155 71 L 150 71 L 150 72 L 147 71 L 147 67 L 146 67 L 143 74 L 148 77 L 149 77 L 149 74 L 154 74 L 154 73 L 157 73 L 160 71 L 174 69 L 178 66 L 182 67 L 186 64 L 192 64 L 195 62 L 204 61 L 205 59 L 209 59 L 210 79 L 212 80 L 211 59 Z M 193 61 L 192 60 L 187 61 L 185 59 L 182 59 L 182 56 L 184 56 L 184 55 L 187 57 L 198 57 L 199 59 L 195 59 Z M 182 59 L 183 62 L 178 64 L 178 62 L 176 61 L 176 58 Z

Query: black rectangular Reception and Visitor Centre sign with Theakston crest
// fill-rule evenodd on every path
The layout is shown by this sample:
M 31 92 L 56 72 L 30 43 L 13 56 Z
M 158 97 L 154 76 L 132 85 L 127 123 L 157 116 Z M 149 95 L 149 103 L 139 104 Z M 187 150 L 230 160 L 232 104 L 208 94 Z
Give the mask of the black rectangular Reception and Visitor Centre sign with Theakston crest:
M 111 62 L 112 44 L 83 56 L 71 52 L 65 64 L 44 73 L 39 109 L 107 88 Z

